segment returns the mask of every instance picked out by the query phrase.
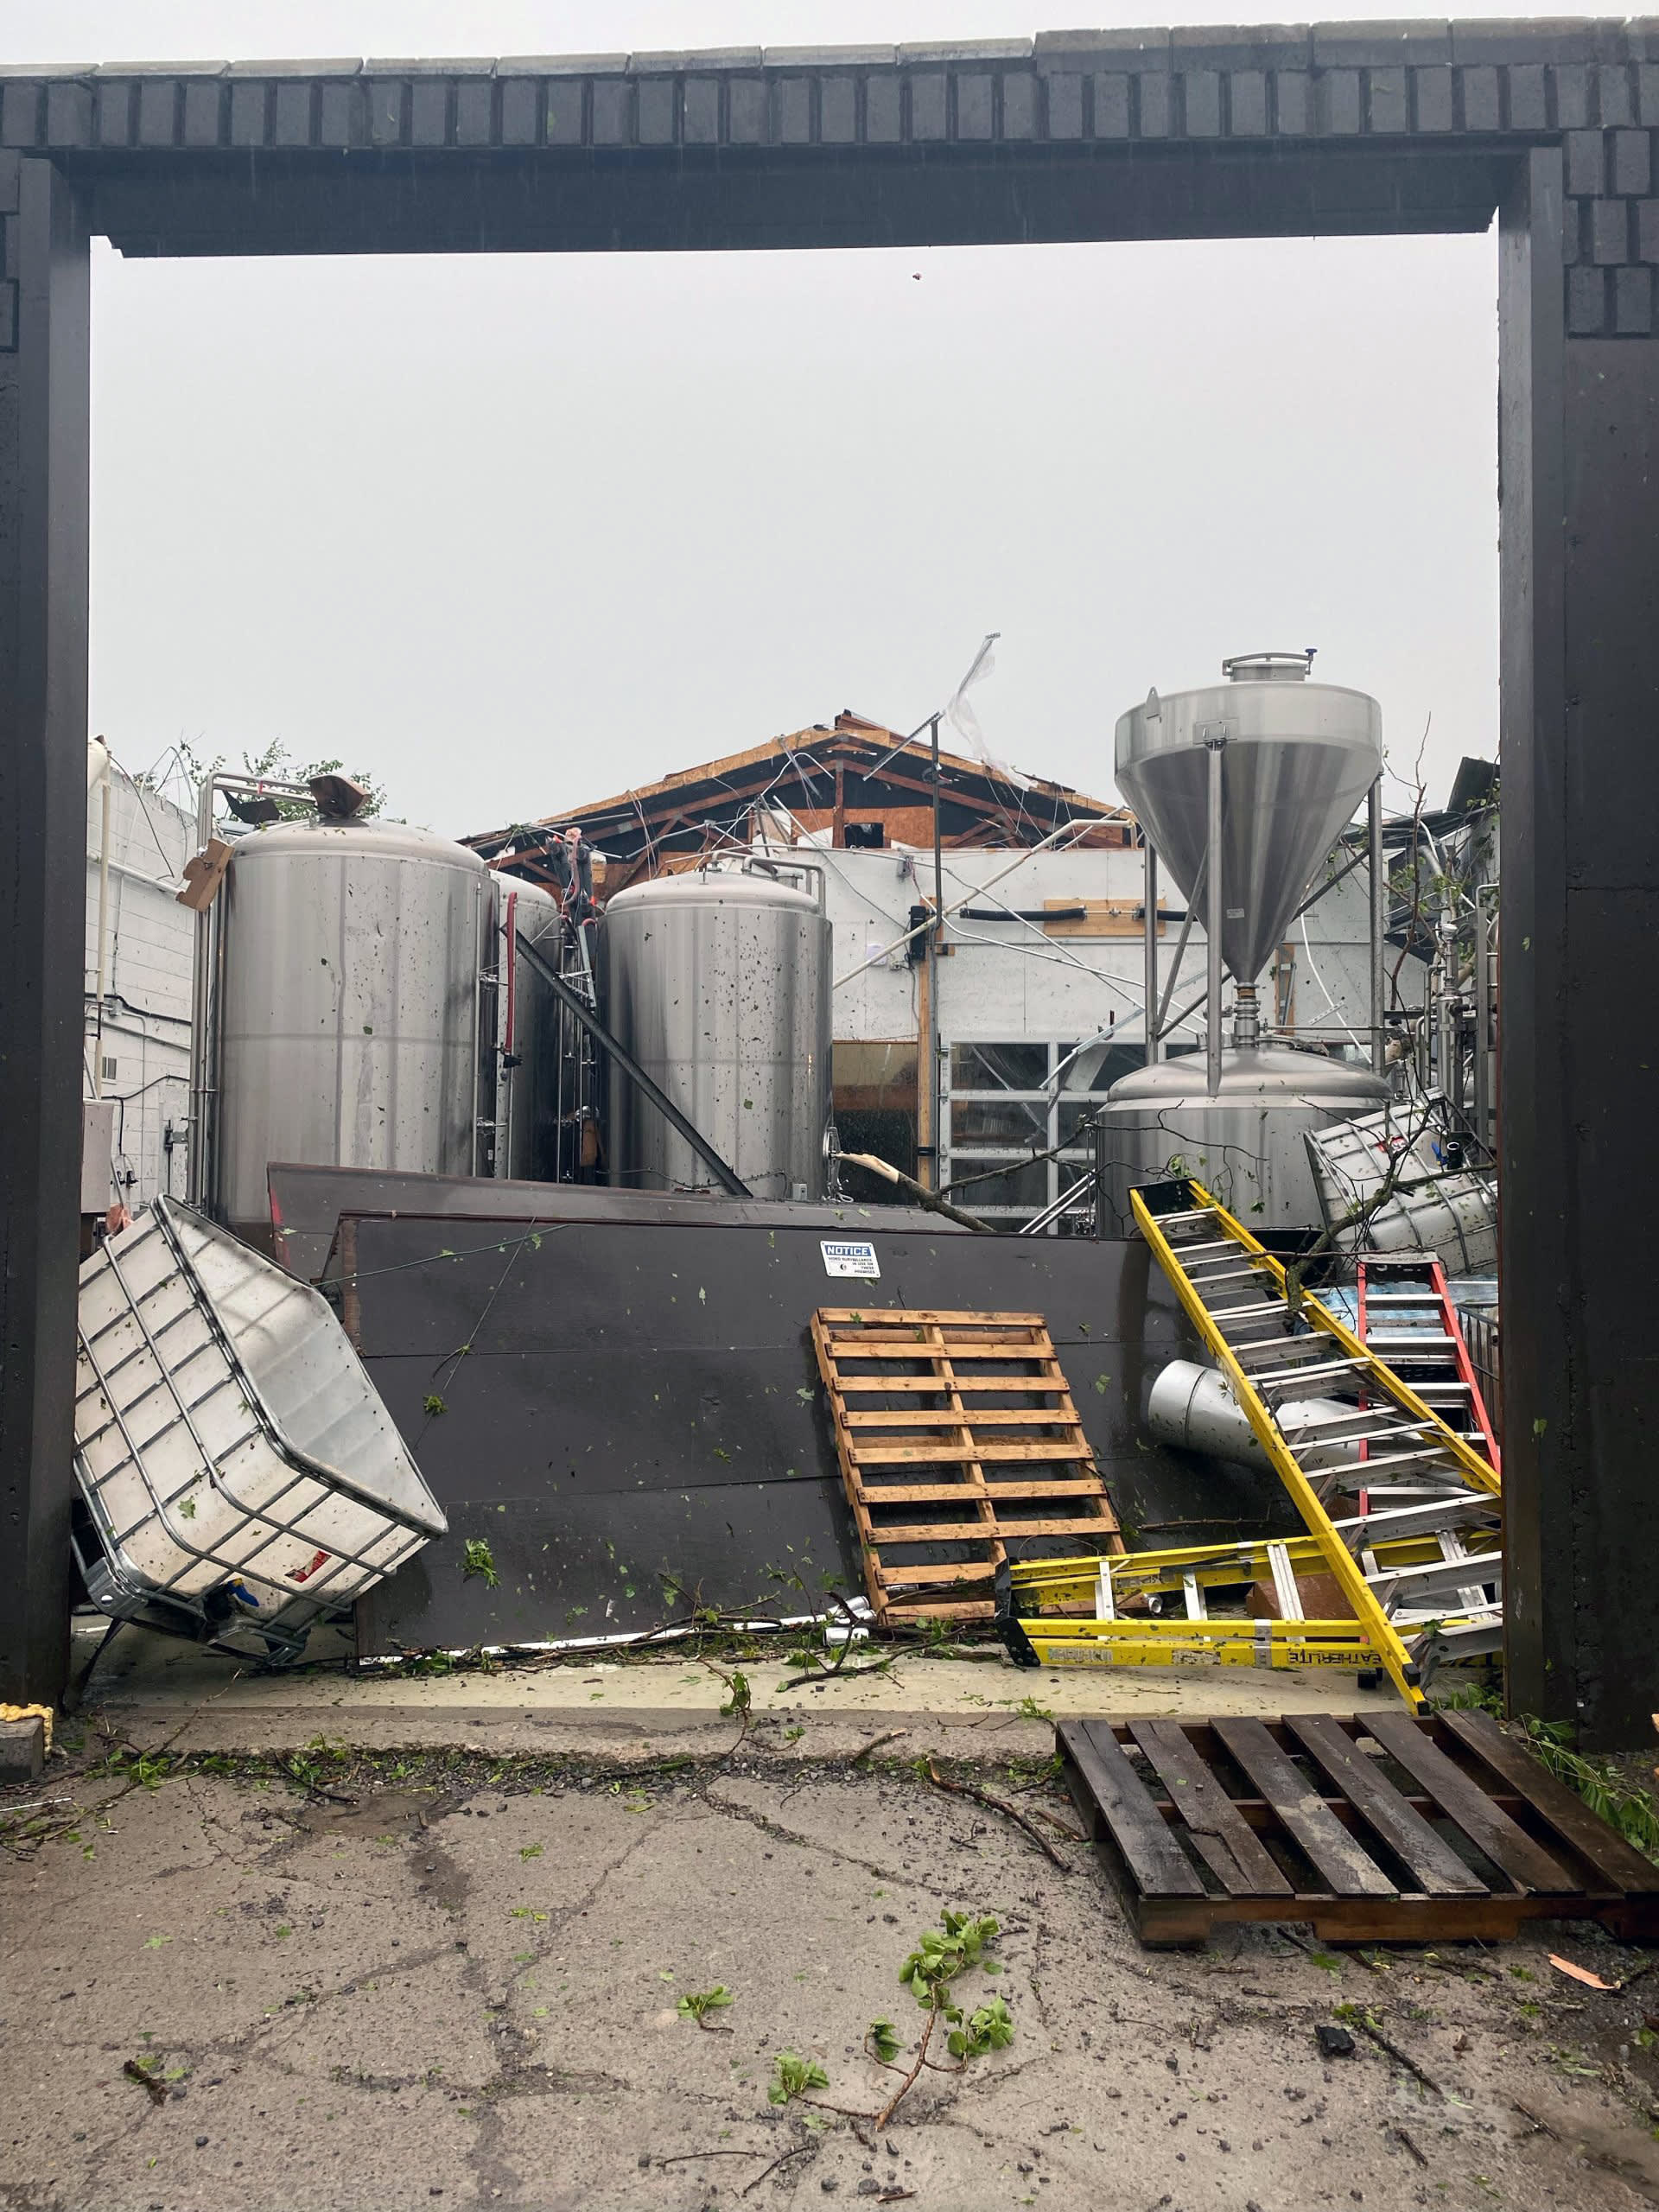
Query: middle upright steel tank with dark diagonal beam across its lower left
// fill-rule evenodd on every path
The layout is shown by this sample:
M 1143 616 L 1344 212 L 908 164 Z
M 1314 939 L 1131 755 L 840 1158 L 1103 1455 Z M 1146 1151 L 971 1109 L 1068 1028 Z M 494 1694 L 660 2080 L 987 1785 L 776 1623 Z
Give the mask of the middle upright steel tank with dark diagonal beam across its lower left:
M 818 1199 L 830 1128 L 830 918 L 768 869 L 710 867 L 604 909 L 606 1022 L 757 1199 Z M 708 1168 L 611 1071 L 611 1181 L 697 1190 Z

